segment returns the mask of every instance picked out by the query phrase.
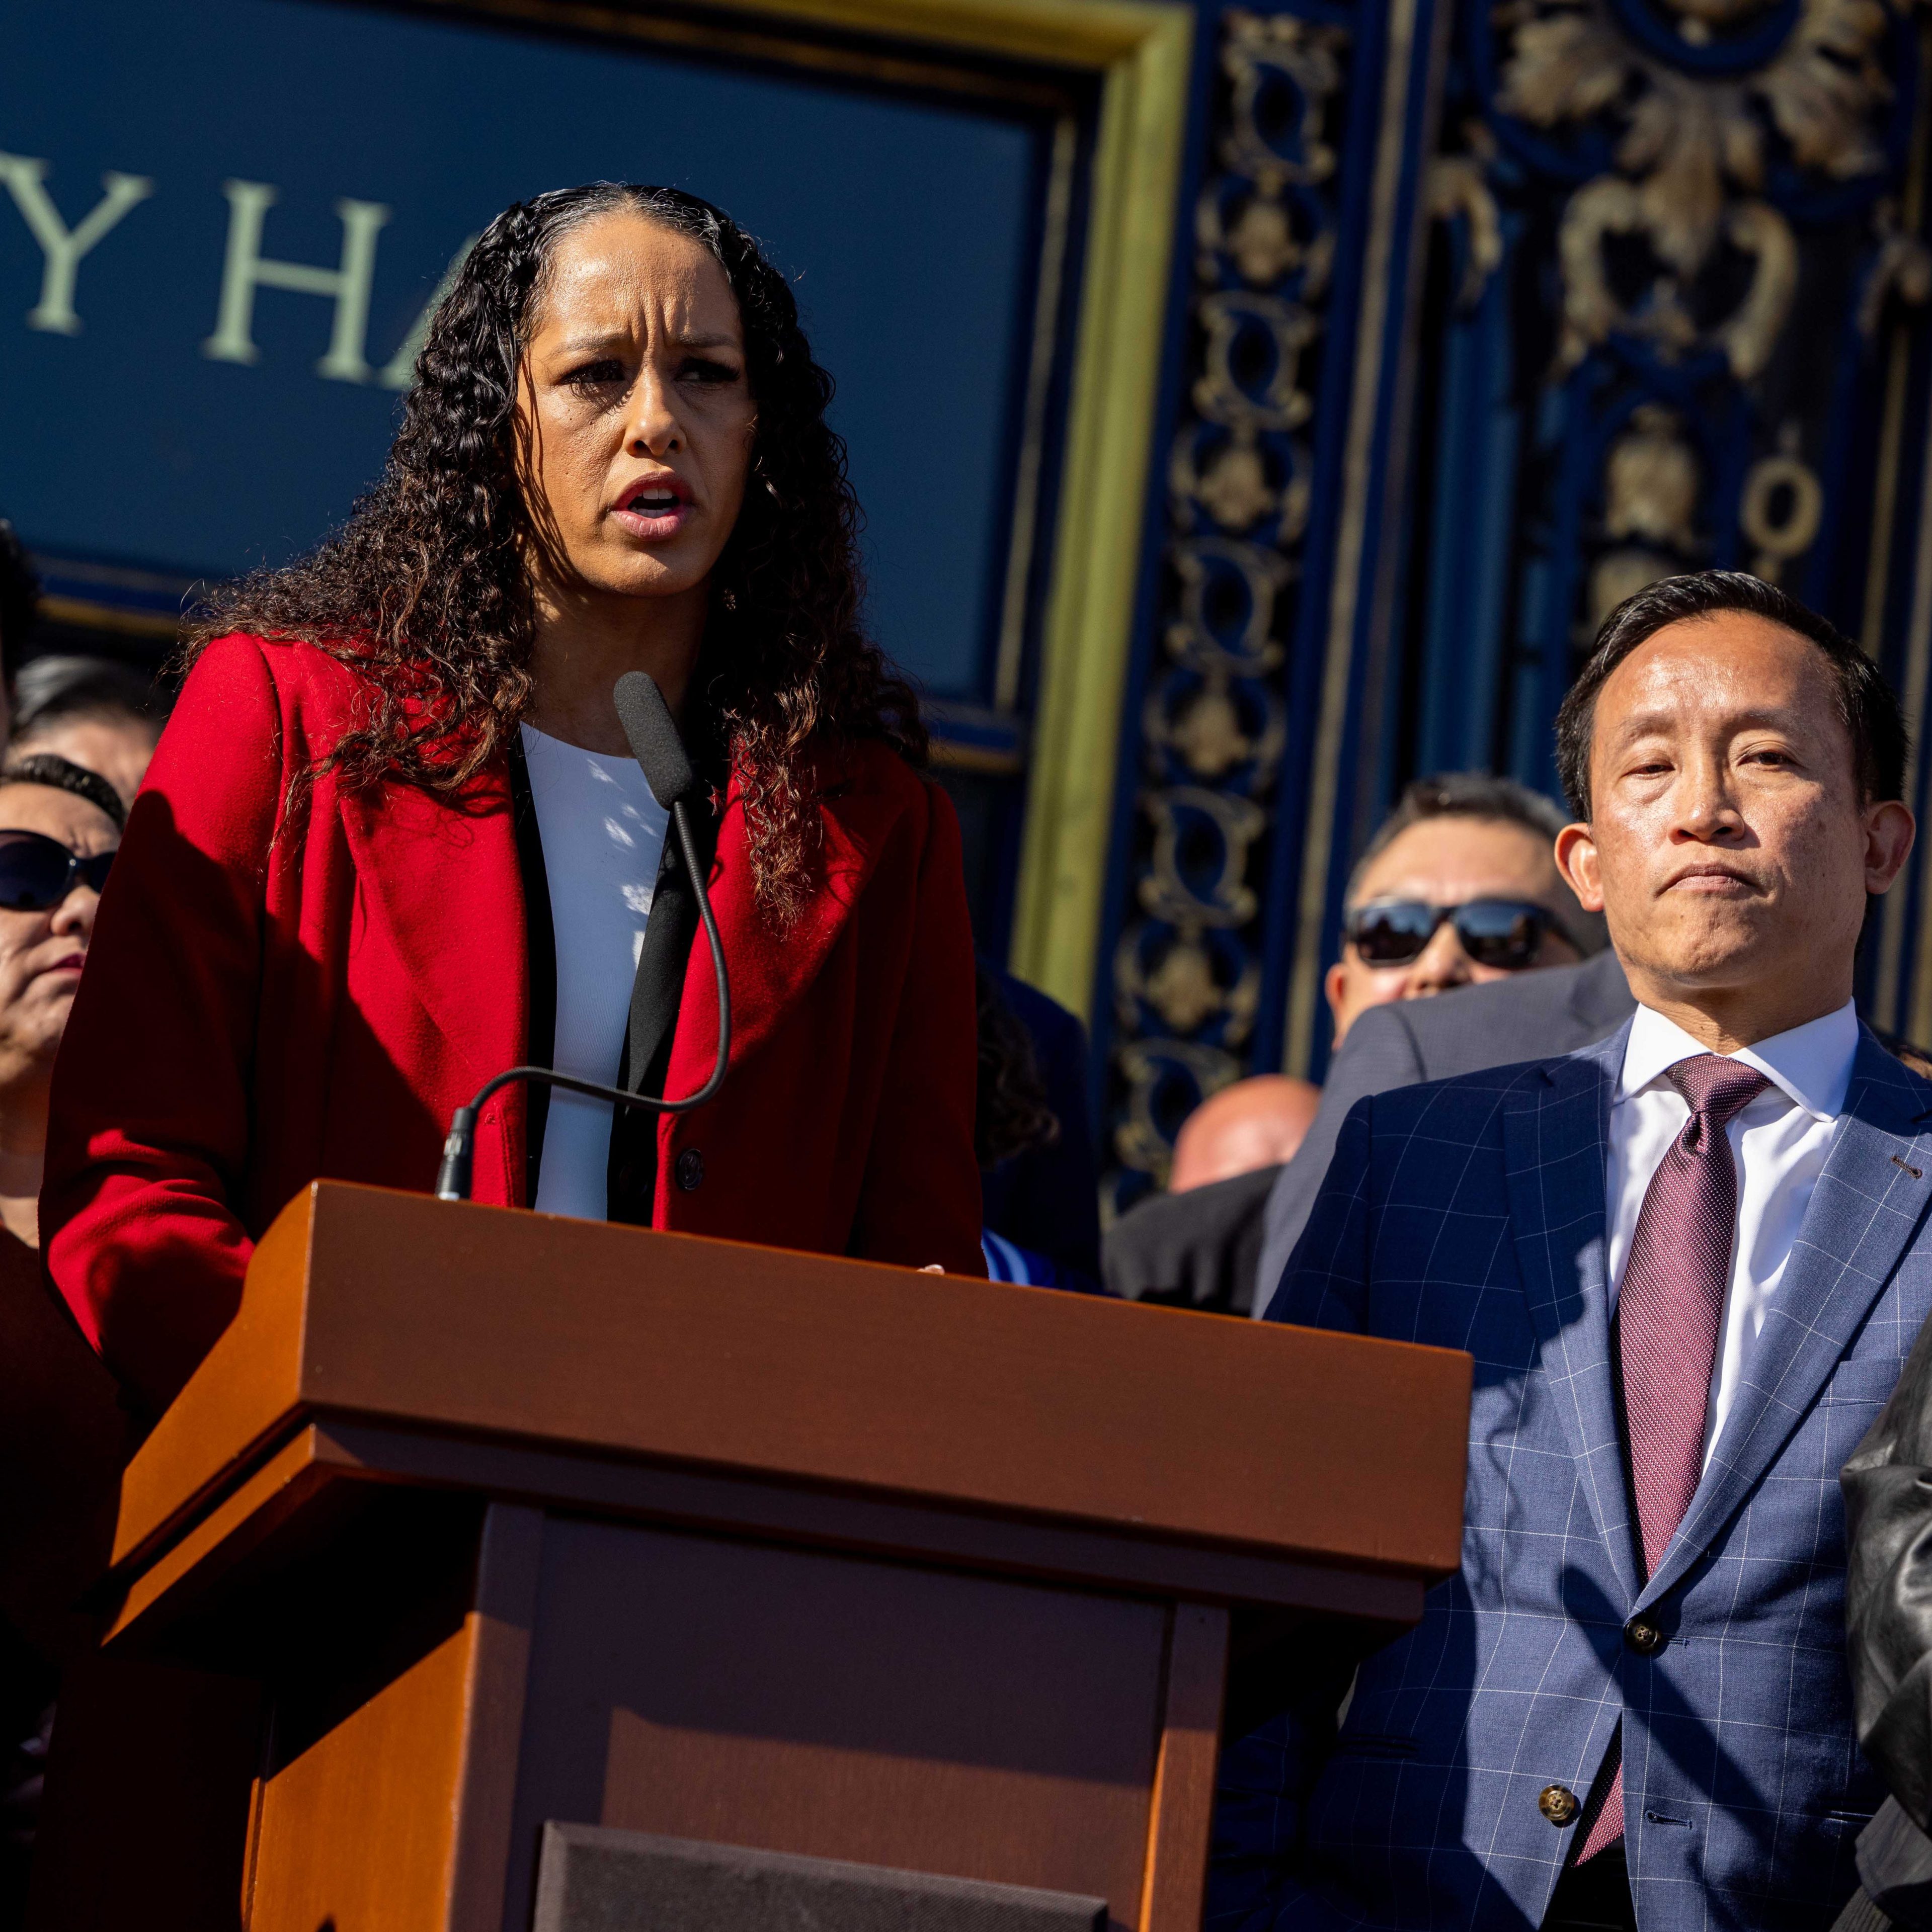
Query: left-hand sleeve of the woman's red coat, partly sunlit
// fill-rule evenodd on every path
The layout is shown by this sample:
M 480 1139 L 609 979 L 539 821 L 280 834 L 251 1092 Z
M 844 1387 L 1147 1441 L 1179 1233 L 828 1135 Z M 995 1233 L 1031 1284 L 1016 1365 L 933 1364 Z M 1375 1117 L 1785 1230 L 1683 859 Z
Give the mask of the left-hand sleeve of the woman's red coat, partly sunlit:
M 276 688 L 211 645 L 168 721 L 100 900 L 54 1068 L 41 1238 L 114 1374 L 164 1406 L 234 1318 L 265 891 L 282 798 Z

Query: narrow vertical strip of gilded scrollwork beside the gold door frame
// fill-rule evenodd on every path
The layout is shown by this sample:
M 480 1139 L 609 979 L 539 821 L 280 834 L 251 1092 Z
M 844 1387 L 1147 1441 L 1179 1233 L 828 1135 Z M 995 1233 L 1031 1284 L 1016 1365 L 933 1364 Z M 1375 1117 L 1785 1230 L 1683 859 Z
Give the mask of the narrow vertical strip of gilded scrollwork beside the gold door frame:
M 1109 1211 L 1165 1180 L 1179 1121 L 1250 1070 L 1254 881 L 1287 746 L 1349 48 L 1343 27 L 1293 14 L 1221 17 L 1219 168 L 1194 214 L 1192 381 L 1167 464 L 1134 912 L 1113 954 Z

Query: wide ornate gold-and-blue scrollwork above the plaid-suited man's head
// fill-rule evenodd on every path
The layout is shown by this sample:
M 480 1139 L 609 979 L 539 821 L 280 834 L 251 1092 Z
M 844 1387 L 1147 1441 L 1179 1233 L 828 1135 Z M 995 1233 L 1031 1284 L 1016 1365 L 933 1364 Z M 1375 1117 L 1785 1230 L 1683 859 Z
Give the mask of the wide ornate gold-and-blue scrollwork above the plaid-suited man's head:
M 1864 582 L 1820 539 L 1855 535 L 1861 344 L 1888 303 L 1932 296 L 1897 214 L 1918 27 L 1911 0 L 1457 12 L 1428 205 L 1459 259 L 1455 327 L 1507 336 L 1542 392 L 1507 639 L 1538 667 L 1538 715 L 1513 724 L 1534 746 L 1575 649 L 1658 576 L 1745 568 L 1814 603 Z M 1509 315 L 1478 321 L 1495 276 Z

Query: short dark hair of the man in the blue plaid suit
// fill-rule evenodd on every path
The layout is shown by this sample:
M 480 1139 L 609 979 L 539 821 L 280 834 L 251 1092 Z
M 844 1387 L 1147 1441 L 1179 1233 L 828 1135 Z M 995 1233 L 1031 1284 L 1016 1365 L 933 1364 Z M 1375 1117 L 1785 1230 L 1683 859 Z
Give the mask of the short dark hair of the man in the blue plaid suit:
M 1590 736 L 1596 699 L 1609 674 L 1631 651 L 1665 624 L 1719 611 L 1745 611 L 1808 638 L 1832 668 L 1832 696 L 1851 736 L 1851 761 L 1866 802 L 1901 798 L 1905 792 L 1905 713 L 1880 668 L 1835 624 L 1818 616 L 1776 583 L 1743 570 L 1698 570 L 1646 583 L 1604 618 L 1590 657 L 1557 711 L 1557 777 L 1571 810 L 1590 817 Z

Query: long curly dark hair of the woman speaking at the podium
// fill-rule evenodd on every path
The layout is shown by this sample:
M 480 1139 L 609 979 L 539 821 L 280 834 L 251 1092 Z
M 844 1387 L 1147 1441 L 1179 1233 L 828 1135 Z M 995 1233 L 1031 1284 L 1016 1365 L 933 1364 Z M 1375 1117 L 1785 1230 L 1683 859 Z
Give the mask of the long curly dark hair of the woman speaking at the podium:
M 742 788 L 757 900 L 784 925 L 817 860 L 810 744 L 877 738 L 918 765 L 925 730 L 862 628 L 858 500 L 825 421 L 833 379 L 784 276 L 709 201 L 591 182 L 504 209 L 437 309 L 381 481 L 309 556 L 216 591 L 189 624 L 187 657 L 242 630 L 354 667 L 367 721 L 309 777 L 454 794 L 502 753 L 533 694 L 527 558 L 545 543 L 520 483 L 518 375 L 558 240 L 612 211 L 701 243 L 738 298 L 757 433 L 694 692 Z

